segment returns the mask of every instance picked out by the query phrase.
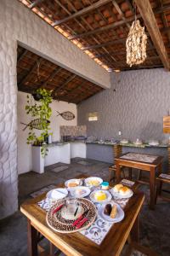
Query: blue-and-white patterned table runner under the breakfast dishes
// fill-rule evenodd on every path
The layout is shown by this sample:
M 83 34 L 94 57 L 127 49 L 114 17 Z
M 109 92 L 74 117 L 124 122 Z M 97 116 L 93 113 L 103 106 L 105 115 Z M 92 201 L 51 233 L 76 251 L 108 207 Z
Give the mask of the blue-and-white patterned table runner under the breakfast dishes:
M 93 190 L 96 190 L 99 188 L 95 188 Z M 89 196 L 87 197 L 89 199 Z M 124 208 L 127 204 L 128 199 L 118 199 L 114 198 L 112 200 L 120 205 L 120 207 Z M 43 210 L 48 212 L 50 207 L 54 205 L 54 203 L 51 203 L 48 201 L 48 199 L 44 199 L 42 201 L 37 202 L 37 205 L 41 207 Z M 97 208 L 99 207 L 99 204 L 95 204 Z M 100 218 L 99 214 L 97 213 L 97 218 L 94 221 L 94 224 L 92 224 L 87 230 L 79 231 L 82 236 L 86 236 L 89 240 L 94 241 L 96 244 L 100 245 L 101 242 L 104 240 L 105 236 L 111 230 L 111 227 L 113 226 L 113 223 L 105 221 L 103 218 Z

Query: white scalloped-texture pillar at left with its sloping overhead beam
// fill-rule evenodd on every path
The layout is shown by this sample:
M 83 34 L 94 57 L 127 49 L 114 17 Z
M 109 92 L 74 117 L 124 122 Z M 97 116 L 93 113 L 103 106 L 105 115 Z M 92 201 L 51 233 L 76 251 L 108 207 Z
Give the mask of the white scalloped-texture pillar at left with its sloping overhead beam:
M 17 0 L 0 1 L 0 218 L 17 210 L 17 42 L 103 87 L 110 75 Z

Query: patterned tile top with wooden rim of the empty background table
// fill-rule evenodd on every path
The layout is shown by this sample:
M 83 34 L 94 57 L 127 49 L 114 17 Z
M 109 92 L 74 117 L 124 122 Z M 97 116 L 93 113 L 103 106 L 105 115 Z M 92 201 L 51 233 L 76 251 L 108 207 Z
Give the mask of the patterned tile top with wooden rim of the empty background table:
M 163 160 L 163 157 L 159 155 L 152 155 L 152 154 L 140 154 L 140 153 L 127 152 L 126 154 L 122 154 L 120 157 L 116 157 L 115 160 L 119 162 L 126 161 L 126 162 L 140 163 L 148 166 L 158 166 Z

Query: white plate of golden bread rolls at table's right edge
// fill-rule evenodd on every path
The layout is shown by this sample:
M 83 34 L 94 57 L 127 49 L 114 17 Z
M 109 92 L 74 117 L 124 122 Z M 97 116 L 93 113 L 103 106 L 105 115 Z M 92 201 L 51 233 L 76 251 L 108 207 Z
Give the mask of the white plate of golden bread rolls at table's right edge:
M 115 187 L 111 189 L 111 194 L 118 198 L 130 198 L 133 196 L 133 190 L 122 184 L 116 184 Z

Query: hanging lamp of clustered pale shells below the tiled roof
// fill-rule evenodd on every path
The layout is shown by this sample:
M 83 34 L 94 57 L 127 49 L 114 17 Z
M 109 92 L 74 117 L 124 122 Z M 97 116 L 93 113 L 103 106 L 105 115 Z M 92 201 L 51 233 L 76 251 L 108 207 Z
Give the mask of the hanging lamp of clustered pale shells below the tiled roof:
M 136 20 L 136 5 L 135 5 L 135 20 L 128 32 L 126 47 L 127 47 L 127 64 L 132 67 L 139 65 L 146 58 L 147 36 L 144 32 L 144 26 L 140 26 L 139 20 Z

